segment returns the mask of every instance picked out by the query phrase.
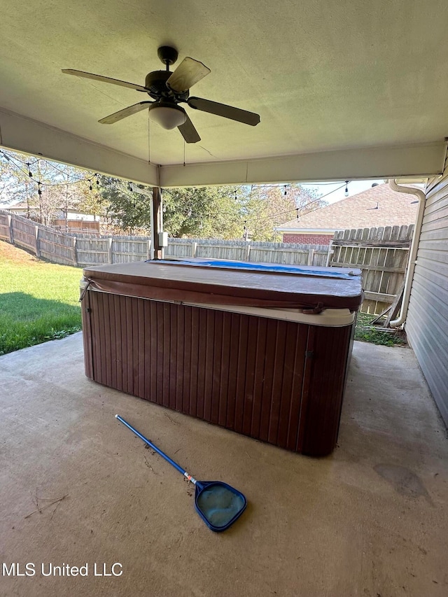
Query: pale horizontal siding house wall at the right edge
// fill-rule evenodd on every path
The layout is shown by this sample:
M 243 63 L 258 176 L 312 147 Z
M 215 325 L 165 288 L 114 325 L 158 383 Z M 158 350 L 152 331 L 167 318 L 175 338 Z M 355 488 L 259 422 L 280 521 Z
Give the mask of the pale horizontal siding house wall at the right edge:
M 406 332 L 448 425 L 448 169 L 426 189 Z

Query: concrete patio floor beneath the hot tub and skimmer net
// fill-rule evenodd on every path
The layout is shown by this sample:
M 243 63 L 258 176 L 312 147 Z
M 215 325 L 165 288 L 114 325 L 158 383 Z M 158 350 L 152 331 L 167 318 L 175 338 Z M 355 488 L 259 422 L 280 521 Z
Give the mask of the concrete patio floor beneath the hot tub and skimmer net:
M 411 349 L 355 342 L 339 444 L 320 459 L 95 384 L 80 333 L 0 357 L 0 393 L 1 561 L 36 570 L 3 568 L 2 596 L 448 594 L 448 440 Z M 241 519 L 209 531 L 116 413 L 244 491 Z M 43 576 L 50 563 L 88 575 Z

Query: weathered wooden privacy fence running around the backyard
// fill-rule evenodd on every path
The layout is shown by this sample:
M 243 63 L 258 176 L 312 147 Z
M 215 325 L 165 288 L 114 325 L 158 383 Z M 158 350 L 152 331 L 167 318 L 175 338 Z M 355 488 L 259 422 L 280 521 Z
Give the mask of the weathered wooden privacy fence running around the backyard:
M 359 267 L 363 272 L 362 310 L 379 314 L 393 304 L 405 279 L 414 226 L 386 226 L 335 232 L 330 246 L 168 239 L 165 255 L 291 265 Z M 22 216 L 0 210 L 0 239 L 64 265 L 100 265 L 146 260 L 148 237 L 92 237 L 64 234 Z

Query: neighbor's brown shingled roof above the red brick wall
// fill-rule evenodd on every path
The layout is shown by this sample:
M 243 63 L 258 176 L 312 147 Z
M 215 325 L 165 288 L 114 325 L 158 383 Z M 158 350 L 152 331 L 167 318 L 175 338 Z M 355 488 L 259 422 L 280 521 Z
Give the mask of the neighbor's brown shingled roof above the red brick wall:
M 417 208 L 414 195 L 393 191 L 383 184 L 306 213 L 275 230 L 324 233 L 349 228 L 409 225 L 416 220 Z

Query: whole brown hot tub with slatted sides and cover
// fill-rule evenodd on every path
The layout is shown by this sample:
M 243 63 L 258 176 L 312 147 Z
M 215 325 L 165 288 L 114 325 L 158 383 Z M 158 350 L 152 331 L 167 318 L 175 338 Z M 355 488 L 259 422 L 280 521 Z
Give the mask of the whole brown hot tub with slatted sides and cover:
M 360 270 L 196 259 L 83 274 L 87 377 L 302 454 L 334 449 Z

